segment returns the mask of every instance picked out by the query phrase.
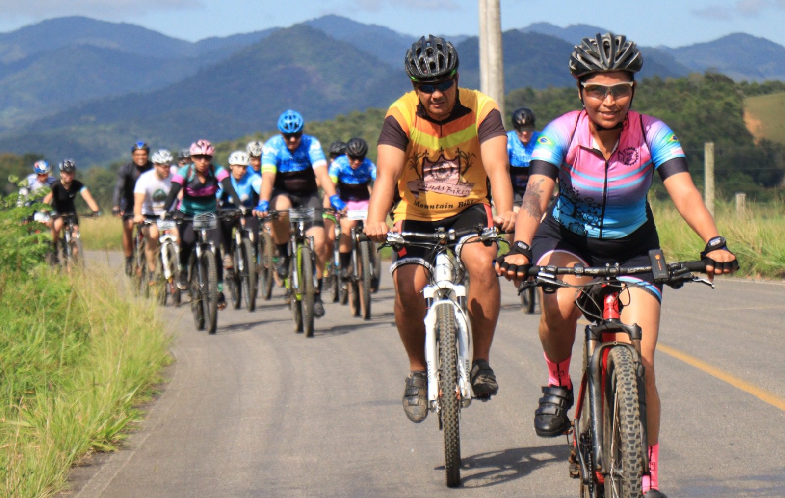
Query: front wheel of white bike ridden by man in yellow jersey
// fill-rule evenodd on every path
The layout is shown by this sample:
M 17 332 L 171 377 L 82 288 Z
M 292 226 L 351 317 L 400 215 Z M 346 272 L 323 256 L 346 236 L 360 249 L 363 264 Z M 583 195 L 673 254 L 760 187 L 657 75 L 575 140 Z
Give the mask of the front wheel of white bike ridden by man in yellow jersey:
M 439 415 L 444 431 L 444 471 L 447 486 L 461 484 L 461 392 L 458 389 L 458 342 L 455 310 L 436 308 L 436 337 L 439 340 Z

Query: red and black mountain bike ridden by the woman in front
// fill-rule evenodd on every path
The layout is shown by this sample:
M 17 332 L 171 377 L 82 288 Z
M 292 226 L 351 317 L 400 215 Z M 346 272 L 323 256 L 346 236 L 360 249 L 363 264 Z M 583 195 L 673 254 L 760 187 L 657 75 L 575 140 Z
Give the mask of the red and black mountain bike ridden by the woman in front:
M 701 282 L 714 288 L 708 280 L 692 275 L 705 273 L 705 262 L 666 264 L 659 250 L 649 251 L 649 259 L 649 266 L 630 268 L 531 266 L 528 276 L 534 279 L 519 287 L 519 291 L 543 287 L 544 292 L 575 287 L 575 303 L 591 322 L 584 329 L 583 374 L 567 434 L 570 477 L 580 479 L 581 496 L 641 496 L 641 478 L 648 472 L 641 328 L 620 320 L 619 296 L 634 284 L 619 276 L 652 272 L 655 282 L 672 287 Z M 565 284 L 556 280 L 557 275 L 595 279 Z M 612 340 L 615 334 L 629 336 L 630 343 Z

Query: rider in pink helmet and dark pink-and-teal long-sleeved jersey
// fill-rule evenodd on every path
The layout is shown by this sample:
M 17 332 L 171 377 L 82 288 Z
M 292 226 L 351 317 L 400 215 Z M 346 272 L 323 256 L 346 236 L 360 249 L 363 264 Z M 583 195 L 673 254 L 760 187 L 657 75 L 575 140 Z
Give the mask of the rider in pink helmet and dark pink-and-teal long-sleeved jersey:
M 210 141 L 198 140 L 191 144 L 189 149 L 192 163 L 181 167 L 172 177 L 172 187 L 169 195 L 166 196 L 166 203 L 163 212 L 169 213 L 177 194 L 183 190 L 183 198 L 180 206 L 177 207 L 179 216 L 193 217 L 197 214 L 215 213 L 217 211 L 216 192 L 218 185 L 228 192 L 229 196 L 235 201 L 235 206 L 241 204 L 237 192 L 232 187 L 229 174 L 223 167 L 213 164 L 214 146 Z M 180 281 L 177 287 L 182 291 L 188 289 L 188 259 L 191 258 L 196 234 L 193 229 L 192 220 L 180 219 L 177 222 L 177 230 L 180 232 Z M 215 262 L 218 269 L 218 307 L 226 307 L 226 298 L 223 292 L 224 272 L 221 265 L 221 230 L 212 229 L 207 231 L 207 237 L 215 244 Z

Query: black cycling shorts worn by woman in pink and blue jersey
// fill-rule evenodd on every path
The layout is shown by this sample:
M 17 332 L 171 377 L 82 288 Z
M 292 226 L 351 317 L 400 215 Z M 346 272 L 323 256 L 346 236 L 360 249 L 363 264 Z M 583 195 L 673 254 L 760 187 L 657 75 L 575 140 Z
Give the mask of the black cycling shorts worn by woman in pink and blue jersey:
M 543 258 L 554 252 L 564 252 L 575 256 L 586 266 L 614 265 L 617 262 L 622 266 L 650 266 L 648 251 L 652 249 L 659 249 L 659 236 L 651 216 L 628 236 L 593 239 L 572 233 L 549 212 L 531 242 L 535 265 L 540 265 Z M 621 276 L 619 280 L 641 287 L 657 301 L 663 301 L 663 285 L 655 284 L 651 272 Z

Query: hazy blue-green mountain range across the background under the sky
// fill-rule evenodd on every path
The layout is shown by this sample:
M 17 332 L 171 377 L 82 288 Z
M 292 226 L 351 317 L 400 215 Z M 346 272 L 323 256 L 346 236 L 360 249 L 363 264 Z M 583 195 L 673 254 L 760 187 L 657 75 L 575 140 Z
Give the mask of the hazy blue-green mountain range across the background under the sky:
M 573 84 L 572 45 L 604 31 L 547 23 L 506 31 L 506 89 Z M 478 39 L 450 39 L 461 55 L 461 85 L 478 87 Z M 86 17 L 42 21 L 0 34 L 0 150 L 105 164 L 127 156 L 127 143 L 139 138 L 181 148 L 197 137 L 270 130 L 285 108 L 307 120 L 385 108 L 411 88 L 402 65 L 413 41 L 341 16 L 199 42 Z M 765 38 L 641 48 L 643 78 L 715 70 L 785 79 L 785 47 Z

